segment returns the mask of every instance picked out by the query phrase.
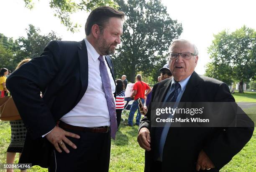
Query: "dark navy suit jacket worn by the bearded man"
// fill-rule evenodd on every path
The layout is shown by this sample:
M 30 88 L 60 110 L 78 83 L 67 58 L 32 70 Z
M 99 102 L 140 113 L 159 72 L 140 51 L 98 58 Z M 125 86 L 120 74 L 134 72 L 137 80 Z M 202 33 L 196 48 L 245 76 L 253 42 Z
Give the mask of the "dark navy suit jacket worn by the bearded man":
M 109 56 L 105 60 L 115 81 L 113 62 Z M 28 130 L 20 163 L 48 167 L 52 145 L 41 136 L 51 131 L 87 90 L 88 55 L 84 40 L 50 42 L 40 57 L 14 71 L 6 85 Z

